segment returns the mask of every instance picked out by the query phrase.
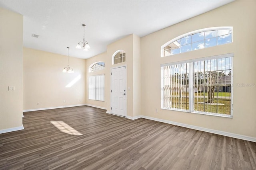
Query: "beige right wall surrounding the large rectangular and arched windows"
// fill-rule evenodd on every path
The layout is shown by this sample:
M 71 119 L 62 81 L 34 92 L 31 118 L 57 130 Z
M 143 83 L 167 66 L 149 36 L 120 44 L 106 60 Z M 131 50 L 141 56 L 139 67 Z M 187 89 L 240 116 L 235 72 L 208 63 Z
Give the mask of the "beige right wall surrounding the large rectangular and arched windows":
M 256 1 L 235 1 L 195 18 L 141 38 L 142 114 L 198 127 L 256 137 Z M 171 39 L 197 29 L 233 26 L 233 43 L 161 58 L 160 47 Z M 234 53 L 234 118 L 160 109 L 160 64 Z M 158 112 L 155 112 L 158 109 Z

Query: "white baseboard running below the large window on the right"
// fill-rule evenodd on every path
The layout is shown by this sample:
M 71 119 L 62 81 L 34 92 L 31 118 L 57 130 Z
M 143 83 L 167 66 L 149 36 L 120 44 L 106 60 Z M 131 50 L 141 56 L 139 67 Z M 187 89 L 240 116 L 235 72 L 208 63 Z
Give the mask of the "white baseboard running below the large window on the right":
M 239 134 L 236 134 L 236 133 L 218 131 L 218 130 L 214 130 L 214 129 L 208 129 L 208 128 L 204 128 L 204 127 L 198 127 L 198 126 L 188 125 L 188 124 L 184 124 L 184 123 L 178 123 L 178 122 L 174 122 L 174 121 L 168 121 L 168 120 L 164 120 L 164 119 L 158 119 L 158 118 L 144 116 L 144 115 L 139 115 L 139 116 L 136 116 L 136 117 L 130 117 L 129 116 L 127 118 L 132 119 L 132 120 L 138 119 L 138 118 L 150 119 L 150 120 L 154 120 L 154 121 L 168 123 L 168 124 L 171 124 L 171 125 L 177 125 L 177 126 L 181 126 L 181 127 L 195 129 L 195 130 L 198 130 L 198 131 L 204 131 L 204 132 L 214 133 L 214 134 L 217 134 L 217 135 L 223 135 L 223 136 L 227 136 L 227 137 L 233 137 L 233 138 L 242 139 L 242 140 L 246 140 L 246 141 L 256 142 L 256 137 L 249 137 L 249 136 L 245 136 L 245 135 L 239 135 Z

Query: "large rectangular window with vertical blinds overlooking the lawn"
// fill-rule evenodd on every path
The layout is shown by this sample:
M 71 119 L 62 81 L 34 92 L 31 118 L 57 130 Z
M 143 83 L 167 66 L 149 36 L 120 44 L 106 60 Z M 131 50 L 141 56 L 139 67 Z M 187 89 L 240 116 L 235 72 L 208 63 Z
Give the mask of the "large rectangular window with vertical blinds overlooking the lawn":
M 232 115 L 233 54 L 163 64 L 162 108 Z

